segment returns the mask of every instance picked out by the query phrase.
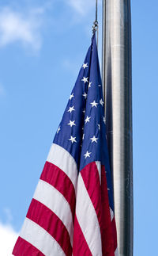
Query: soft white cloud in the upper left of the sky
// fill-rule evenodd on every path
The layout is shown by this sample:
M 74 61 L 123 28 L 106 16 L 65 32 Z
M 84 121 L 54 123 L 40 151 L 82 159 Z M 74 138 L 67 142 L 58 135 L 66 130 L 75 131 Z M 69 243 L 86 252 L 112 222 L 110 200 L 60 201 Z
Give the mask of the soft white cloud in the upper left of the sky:
M 21 13 L 10 8 L 0 9 L 0 47 L 21 42 L 34 50 L 41 47 L 40 15 L 42 8 Z

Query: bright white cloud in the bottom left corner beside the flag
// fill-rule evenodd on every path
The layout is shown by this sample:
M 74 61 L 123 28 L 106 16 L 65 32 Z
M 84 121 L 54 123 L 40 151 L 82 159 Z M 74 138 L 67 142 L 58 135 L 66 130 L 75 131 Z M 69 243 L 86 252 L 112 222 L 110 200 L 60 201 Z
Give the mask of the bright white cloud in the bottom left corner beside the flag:
M 0 222 L 0 251 L 2 256 L 11 256 L 13 246 L 17 240 L 17 232 L 9 224 Z

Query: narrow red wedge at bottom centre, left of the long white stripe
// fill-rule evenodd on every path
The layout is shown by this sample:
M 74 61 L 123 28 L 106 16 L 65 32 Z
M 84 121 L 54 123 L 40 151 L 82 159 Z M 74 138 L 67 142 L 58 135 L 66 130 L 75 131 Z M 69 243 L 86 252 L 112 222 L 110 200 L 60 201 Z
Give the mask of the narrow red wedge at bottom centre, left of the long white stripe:
M 78 223 L 77 216 L 74 217 L 74 232 L 73 232 L 73 256 L 92 256 L 89 250 L 88 244 L 85 240 L 85 236 L 81 231 L 81 227 Z

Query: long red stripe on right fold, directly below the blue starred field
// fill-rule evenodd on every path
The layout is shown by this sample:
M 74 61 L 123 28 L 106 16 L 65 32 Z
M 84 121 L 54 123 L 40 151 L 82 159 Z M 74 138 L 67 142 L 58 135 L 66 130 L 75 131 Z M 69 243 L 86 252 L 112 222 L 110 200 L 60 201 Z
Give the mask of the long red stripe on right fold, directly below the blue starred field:
M 103 255 L 114 256 L 115 247 L 111 227 L 111 214 L 108 201 L 107 179 L 105 170 L 101 170 L 100 175 L 96 166 L 96 162 L 91 162 L 83 170 L 81 176 L 85 183 L 88 195 L 95 208 L 96 215 L 100 224 L 100 233 L 102 239 Z

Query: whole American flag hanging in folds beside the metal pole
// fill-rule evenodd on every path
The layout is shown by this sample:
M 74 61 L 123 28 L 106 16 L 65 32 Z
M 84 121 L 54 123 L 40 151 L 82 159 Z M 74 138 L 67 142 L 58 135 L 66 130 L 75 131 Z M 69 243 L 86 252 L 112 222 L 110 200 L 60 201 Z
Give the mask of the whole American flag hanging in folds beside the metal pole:
M 105 123 L 94 34 L 13 255 L 118 255 Z

